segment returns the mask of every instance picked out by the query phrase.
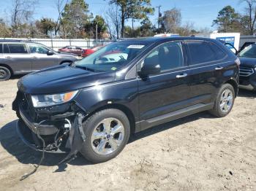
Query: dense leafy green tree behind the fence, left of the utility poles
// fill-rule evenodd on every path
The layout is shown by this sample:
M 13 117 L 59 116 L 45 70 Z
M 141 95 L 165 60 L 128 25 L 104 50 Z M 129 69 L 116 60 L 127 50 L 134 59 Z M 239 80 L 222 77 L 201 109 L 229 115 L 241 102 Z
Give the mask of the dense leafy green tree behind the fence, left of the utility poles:
M 72 0 L 61 14 L 61 27 L 64 37 L 80 38 L 85 36 L 84 26 L 89 23 L 89 5 L 83 0 Z

